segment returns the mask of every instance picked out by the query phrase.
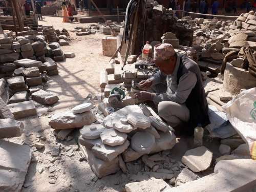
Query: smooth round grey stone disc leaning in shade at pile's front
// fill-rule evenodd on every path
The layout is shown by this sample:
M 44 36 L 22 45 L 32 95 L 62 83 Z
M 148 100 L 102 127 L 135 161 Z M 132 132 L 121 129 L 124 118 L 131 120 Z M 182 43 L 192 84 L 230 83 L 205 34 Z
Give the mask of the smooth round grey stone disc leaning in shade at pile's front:
M 141 154 L 149 154 L 156 146 L 155 137 L 148 132 L 137 132 L 131 140 L 133 150 Z

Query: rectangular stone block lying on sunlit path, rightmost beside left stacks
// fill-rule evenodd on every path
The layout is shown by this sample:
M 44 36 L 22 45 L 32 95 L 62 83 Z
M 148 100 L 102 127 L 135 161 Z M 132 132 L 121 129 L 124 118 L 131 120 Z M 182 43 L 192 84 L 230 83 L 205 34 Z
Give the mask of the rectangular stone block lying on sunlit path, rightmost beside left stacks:
M 31 98 L 40 104 L 51 105 L 58 102 L 57 95 L 51 94 L 44 90 L 39 90 L 31 95 Z

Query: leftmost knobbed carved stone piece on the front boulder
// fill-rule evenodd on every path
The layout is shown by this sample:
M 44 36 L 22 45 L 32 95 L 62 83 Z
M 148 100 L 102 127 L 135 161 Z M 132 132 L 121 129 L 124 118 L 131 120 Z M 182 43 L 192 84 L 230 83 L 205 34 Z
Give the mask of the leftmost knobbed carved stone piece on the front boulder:
M 100 134 L 105 130 L 105 127 L 102 124 L 91 124 L 85 125 L 80 130 L 80 134 L 84 139 L 98 139 Z

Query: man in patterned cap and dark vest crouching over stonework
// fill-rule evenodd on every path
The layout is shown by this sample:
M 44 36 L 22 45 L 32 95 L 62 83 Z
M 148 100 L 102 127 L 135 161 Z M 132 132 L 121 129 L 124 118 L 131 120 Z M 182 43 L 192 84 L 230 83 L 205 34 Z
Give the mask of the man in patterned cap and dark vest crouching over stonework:
M 187 123 L 187 134 L 209 123 L 208 104 L 197 63 L 179 55 L 170 44 L 154 48 L 154 60 L 159 71 L 139 83 L 144 90 L 135 94 L 140 101 L 154 101 L 158 113 L 169 125 Z

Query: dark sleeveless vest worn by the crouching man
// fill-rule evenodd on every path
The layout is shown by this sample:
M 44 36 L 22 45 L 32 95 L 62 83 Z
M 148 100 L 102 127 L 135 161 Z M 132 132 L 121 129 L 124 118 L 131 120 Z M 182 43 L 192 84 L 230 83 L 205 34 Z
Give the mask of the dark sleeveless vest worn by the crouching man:
M 182 75 L 193 72 L 197 75 L 197 83 L 189 94 L 185 104 L 190 112 L 188 134 L 194 133 L 194 128 L 200 123 L 203 127 L 210 123 L 208 117 L 208 103 L 205 96 L 203 81 L 197 63 L 186 56 L 180 56 L 180 66 L 177 72 L 177 82 Z

